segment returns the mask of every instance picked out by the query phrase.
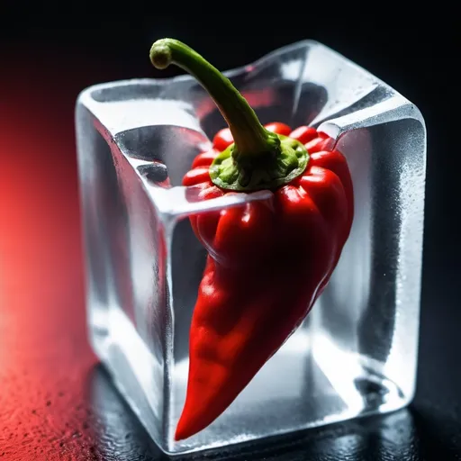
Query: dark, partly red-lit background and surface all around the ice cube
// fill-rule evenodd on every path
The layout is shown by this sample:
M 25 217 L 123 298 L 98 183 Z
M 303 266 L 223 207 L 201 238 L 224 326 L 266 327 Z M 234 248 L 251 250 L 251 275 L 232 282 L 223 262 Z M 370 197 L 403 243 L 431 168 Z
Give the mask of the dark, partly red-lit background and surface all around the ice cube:
M 179 74 L 149 63 L 151 43 L 166 36 L 185 41 L 221 70 L 294 41 L 321 41 L 407 96 L 428 128 L 415 401 L 382 418 L 212 456 L 461 459 L 454 12 L 444 7 L 438 19 L 443 5 L 432 5 L 424 20 L 410 21 L 389 9 L 377 23 L 379 14 L 346 19 L 327 15 L 328 5 L 319 12 L 283 5 L 264 16 L 239 18 L 223 9 L 207 19 L 201 5 L 203 14 L 194 17 L 149 15 L 133 4 L 116 19 L 96 19 L 93 5 L 80 6 L 79 15 L 59 16 L 32 14 L 24 4 L 13 11 L 6 3 L 0 15 L 0 459 L 161 458 L 86 342 L 73 110 L 86 86 Z

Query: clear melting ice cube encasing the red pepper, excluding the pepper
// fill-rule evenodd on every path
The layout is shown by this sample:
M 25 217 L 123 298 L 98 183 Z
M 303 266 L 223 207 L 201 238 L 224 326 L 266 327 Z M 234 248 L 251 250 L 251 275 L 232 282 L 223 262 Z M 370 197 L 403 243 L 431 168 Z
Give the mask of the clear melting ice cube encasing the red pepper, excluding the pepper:
M 312 312 L 208 428 L 176 442 L 206 253 L 181 185 L 225 122 L 192 77 L 92 86 L 77 101 L 87 317 L 95 352 L 149 435 L 175 455 L 401 408 L 416 377 L 426 131 L 418 109 L 313 41 L 226 74 L 259 120 L 325 131 L 347 158 L 355 217 Z

